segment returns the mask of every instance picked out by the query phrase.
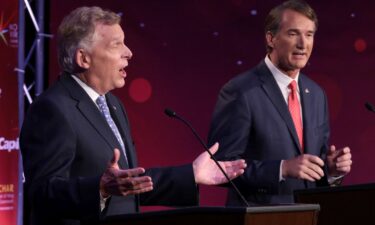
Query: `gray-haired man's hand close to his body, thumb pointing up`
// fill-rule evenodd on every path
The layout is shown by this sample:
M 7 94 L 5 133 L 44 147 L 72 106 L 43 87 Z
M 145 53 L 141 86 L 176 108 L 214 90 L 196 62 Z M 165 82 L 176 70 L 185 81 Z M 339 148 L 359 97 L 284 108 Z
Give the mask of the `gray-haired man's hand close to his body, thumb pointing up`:
M 113 158 L 100 179 L 100 193 L 104 198 L 111 195 L 135 195 L 153 189 L 151 177 L 139 176 L 145 172 L 144 168 L 122 170 L 118 166 L 120 151 L 114 149 L 113 153 Z

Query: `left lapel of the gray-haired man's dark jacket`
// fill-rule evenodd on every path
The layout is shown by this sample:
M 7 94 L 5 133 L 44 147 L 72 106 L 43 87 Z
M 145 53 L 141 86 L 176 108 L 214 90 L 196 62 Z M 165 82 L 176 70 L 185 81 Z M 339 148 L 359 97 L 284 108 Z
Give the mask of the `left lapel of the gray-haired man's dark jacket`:
M 79 84 L 77 84 L 76 81 L 74 81 L 74 79 L 70 76 L 71 75 L 69 74 L 63 74 L 60 78 L 61 82 L 68 89 L 71 97 L 77 100 L 77 109 L 108 144 L 108 149 L 113 152 L 114 148 L 120 147 L 120 144 L 118 143 L 115 135 L 113 134 L 111 128 L 108 126 L 107 121 L 104 119 L 95 103 L 79 86 Z M 120 157 L 119 163 L 122 168 L 126 167 L 125 159 L 122 159 Z

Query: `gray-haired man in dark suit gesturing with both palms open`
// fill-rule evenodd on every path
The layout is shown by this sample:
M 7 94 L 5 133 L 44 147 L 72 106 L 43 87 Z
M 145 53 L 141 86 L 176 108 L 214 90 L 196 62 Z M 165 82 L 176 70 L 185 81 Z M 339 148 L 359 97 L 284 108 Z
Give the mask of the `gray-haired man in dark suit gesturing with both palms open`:
M 208 153 L 189 165 L 138 167 L 125 109 L 110 93 L 124 86 L 132 57 L 124 38 L 120 16 L 99 7 L 78 8 L 59 26 L 64 72 L 21 131 L 25 224 L 93 224 L 137 212 L 139 203 L 195 205 L 196 184 L 226 182 Z M 246 167 L 220 164 L 231 179 Z

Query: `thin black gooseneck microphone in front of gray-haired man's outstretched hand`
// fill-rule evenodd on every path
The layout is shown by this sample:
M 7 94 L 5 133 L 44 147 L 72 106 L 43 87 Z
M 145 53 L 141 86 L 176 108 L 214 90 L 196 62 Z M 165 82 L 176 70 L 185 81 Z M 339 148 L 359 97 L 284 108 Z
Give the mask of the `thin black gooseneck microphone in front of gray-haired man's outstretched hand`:
M 217 159 L 215 158 L 214 155 L 212 155 L 212 153 L 209 151 L 207 145 L 204 143 L 204 141 L 202 140 L 202 138 L 198 135 L 198 133 L 195 131 L 195 129 L 193 128 L 193 126 L 187 121 L 185 120 L 183 117 L 177 115 L 177 113 L 175 111 L 173 111 L 172 109 L 165 109 L 164 110 L 164 113 L 171 117 L 171 118 L 176 118 L 178 120 L 180 120 L 181 122 L 183 122 L 186 126 L 188 126 L 190 128 L 190 130 L 193 132 L 194 136 L 198 139 L 198 141 L 202 144 L 203 148 L 206 150 L 206 152 L 208 152 L 208 154 L 211 156 L 211 159 L 214 160 L 215 164 L 217 165 L 217 167 L 220 169 L 220 171 L 223 173 L 223 175 L 225 176 L 225 178 L 228 180 L 228 182 L 230 183 L 230 185 L 233 187 L 233 189 L 236 191 L 237 195 L 241 198 L 242 202 L 247 206 L 247 207 L 250 207 L 249 203 L 246 201 L 245 197 L 241 194 L 240 190 L 238 190 L 237 186 L 232 182 L 231 179 L 229 179 L 228 177 L 228 174 L 224 171 L 223 167 L 221 167 L 221 165 L 219 164 L 219 162 L 217 161 Z

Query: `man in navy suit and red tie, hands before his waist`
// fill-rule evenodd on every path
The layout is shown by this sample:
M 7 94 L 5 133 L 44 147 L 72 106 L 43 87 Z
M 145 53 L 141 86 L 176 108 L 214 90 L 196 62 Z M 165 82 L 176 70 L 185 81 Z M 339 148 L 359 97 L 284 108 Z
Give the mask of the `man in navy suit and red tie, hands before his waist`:
M 314 10 L 287 1 L 266 18 L 267 56 L 229 81 L 213 113 L 209 143 L 219 159 L 247 159 L 235 180 L 253 204 L 293 202 L 293 190 L 335 184 L 351 169 L 348 147 L 328 147 L 324 91 L 300 73 L 317 29 Z M 232 189 L 228 205 L 242 205 Z

